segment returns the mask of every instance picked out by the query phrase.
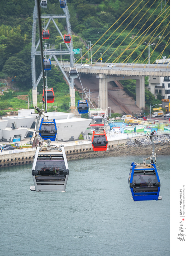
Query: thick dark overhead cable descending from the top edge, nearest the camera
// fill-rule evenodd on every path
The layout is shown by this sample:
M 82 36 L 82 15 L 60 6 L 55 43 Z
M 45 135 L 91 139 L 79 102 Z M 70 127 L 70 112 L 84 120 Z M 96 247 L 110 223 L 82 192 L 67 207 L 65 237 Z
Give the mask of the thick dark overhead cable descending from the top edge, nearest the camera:
M 38 9 L 38 27 L 39 27 L 39 38 L 40 38 L 40 51 L 41 51 L 41 65 L 42 65 L 42 78 L 43 78 L 43 89 L 44 89 L 44 95 L 45 95 L 45 80 L 44 80 L 44 53 L 43 53 L 43 46 L 42 46 L 42 26 L 41 26 L 41 17 L 40 17 L 40 2 L 37 1 L 37 9 Z M 47 113 L 47 102 L 45 100 L 45 113 Z

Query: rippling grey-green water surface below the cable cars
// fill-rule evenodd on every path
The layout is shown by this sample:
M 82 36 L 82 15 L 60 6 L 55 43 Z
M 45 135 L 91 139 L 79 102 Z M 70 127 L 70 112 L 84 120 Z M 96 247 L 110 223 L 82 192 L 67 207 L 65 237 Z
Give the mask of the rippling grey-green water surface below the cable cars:
M 159 201 L 133 202 L 131 162 L 69 161 L 67 192 L 32 192 L 31 166 L 0 169 L 3 256 L 169 256 L 170 157 L 159 156 Z

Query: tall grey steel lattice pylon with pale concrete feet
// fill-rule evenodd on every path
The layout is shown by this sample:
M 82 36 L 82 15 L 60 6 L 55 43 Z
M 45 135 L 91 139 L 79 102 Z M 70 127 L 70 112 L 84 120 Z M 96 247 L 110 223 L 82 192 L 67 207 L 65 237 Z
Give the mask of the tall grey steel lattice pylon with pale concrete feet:
M 59 0 L 60 2 L 60 0 Z M 60 32 L 56 22 L 54 19 L 58 18 L 65 18 L 66 19 L 66 25 L 67 25 L 67 33 L 72 35 L 71 32 L 71 25 L 70 25 L 70 14 L 68 11 L 68 6 L 66 5 L 65 8 L 62 8 L 64 14 L 45 14 L 41 15 L 41 18 L 49 19 L 45 29 L 48 28 L 48 25 L 50 21 L 52 20 L 55 27 L 58 30 L 58 33 L 60 34 L 63 42 L 64 42 L 64 37 L 62 36 L 62 33 Z M 31 73 L 32 73 L 32 96 L 33 96 L 33 105 L 37 106 L 37 86 L 42 79 L 42 72 L 40 73 L 38 79 L 36 80 L 36 74 L 35 74 L 35 56 L 40 55 L 41 52 L 38 50 L 38 46 L 40 44 L 40 39 L 38 40 L 38 43 L 35 45 L 36 42 L 36 24 L 37 24 L 37 19 L 38 19 L 38 10 L 37 10 L 37 1 L 35 0 L 35 6 L 34 6 L 34 12 L 33 12 L 33 28 L 32 28 L 32 46 L 31 46 Z M 73 53 L 73 45 L 72 45 L 72 38 L 71 42 L 69 44 L 65 43 L 67 50 L 56 50 L 56 49 L 45 49 L 45 54 L 49 56 L 49 59 L 53 57 L 55 61 L 57 62 L 58 67 L 60 68 L 62 74 L 65 76 L 69 86 L 70 86 L 70 101 L 71 101 L 71 108 L 75 108 L 75 89 L 74 89 L 74 78 L 68 78 L 67 74 L 64 72 L 64 69 L 61 67 L 58 59 L 56 58 L 56 55 L 70 55 L 70 67 L 73 67 L 73 60 L 74 60 L 74 53 Z

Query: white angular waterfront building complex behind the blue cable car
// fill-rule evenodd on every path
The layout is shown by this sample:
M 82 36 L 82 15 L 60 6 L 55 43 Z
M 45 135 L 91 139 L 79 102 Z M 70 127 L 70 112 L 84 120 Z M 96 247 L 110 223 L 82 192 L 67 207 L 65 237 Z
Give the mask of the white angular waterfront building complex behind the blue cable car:
M 20 109 L 18 110 L 18 116 L 2 117 L 3 120 L 0 120 L 0 140 L 19 142 L 26 136 L 31 136 L 33 134 L 32 129 L 35 128 L 36 116 L 38 116 L 31 114 L 31 112 L 34 113 L 34 109 Z M 74 117 L 75 114 L 73 113 L 47 112 L 45 115 L 49 119 L 55 119 L 57 126 L 56 140 L 61 141 L 77 140 L 80 134 L 85 133 L 91 122 L 91 119 Z

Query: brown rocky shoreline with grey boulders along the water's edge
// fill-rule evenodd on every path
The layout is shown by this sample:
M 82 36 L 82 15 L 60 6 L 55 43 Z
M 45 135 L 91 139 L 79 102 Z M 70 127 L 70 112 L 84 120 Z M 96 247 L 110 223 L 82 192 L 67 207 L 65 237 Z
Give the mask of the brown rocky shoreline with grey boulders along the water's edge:
M 159 155 L 170 155 L 170 135 L 154 137 L 155 153 Z M 137 137 L 128 139 L 128 142 L 116 147 L 110 147 L 108 151 L 85 152 L 66 155 L 67 160 L 88 159 L 94 157 L 112 156 L 143 156 L 149 157 L 152 153 L 152 144 L 149 138 Z

